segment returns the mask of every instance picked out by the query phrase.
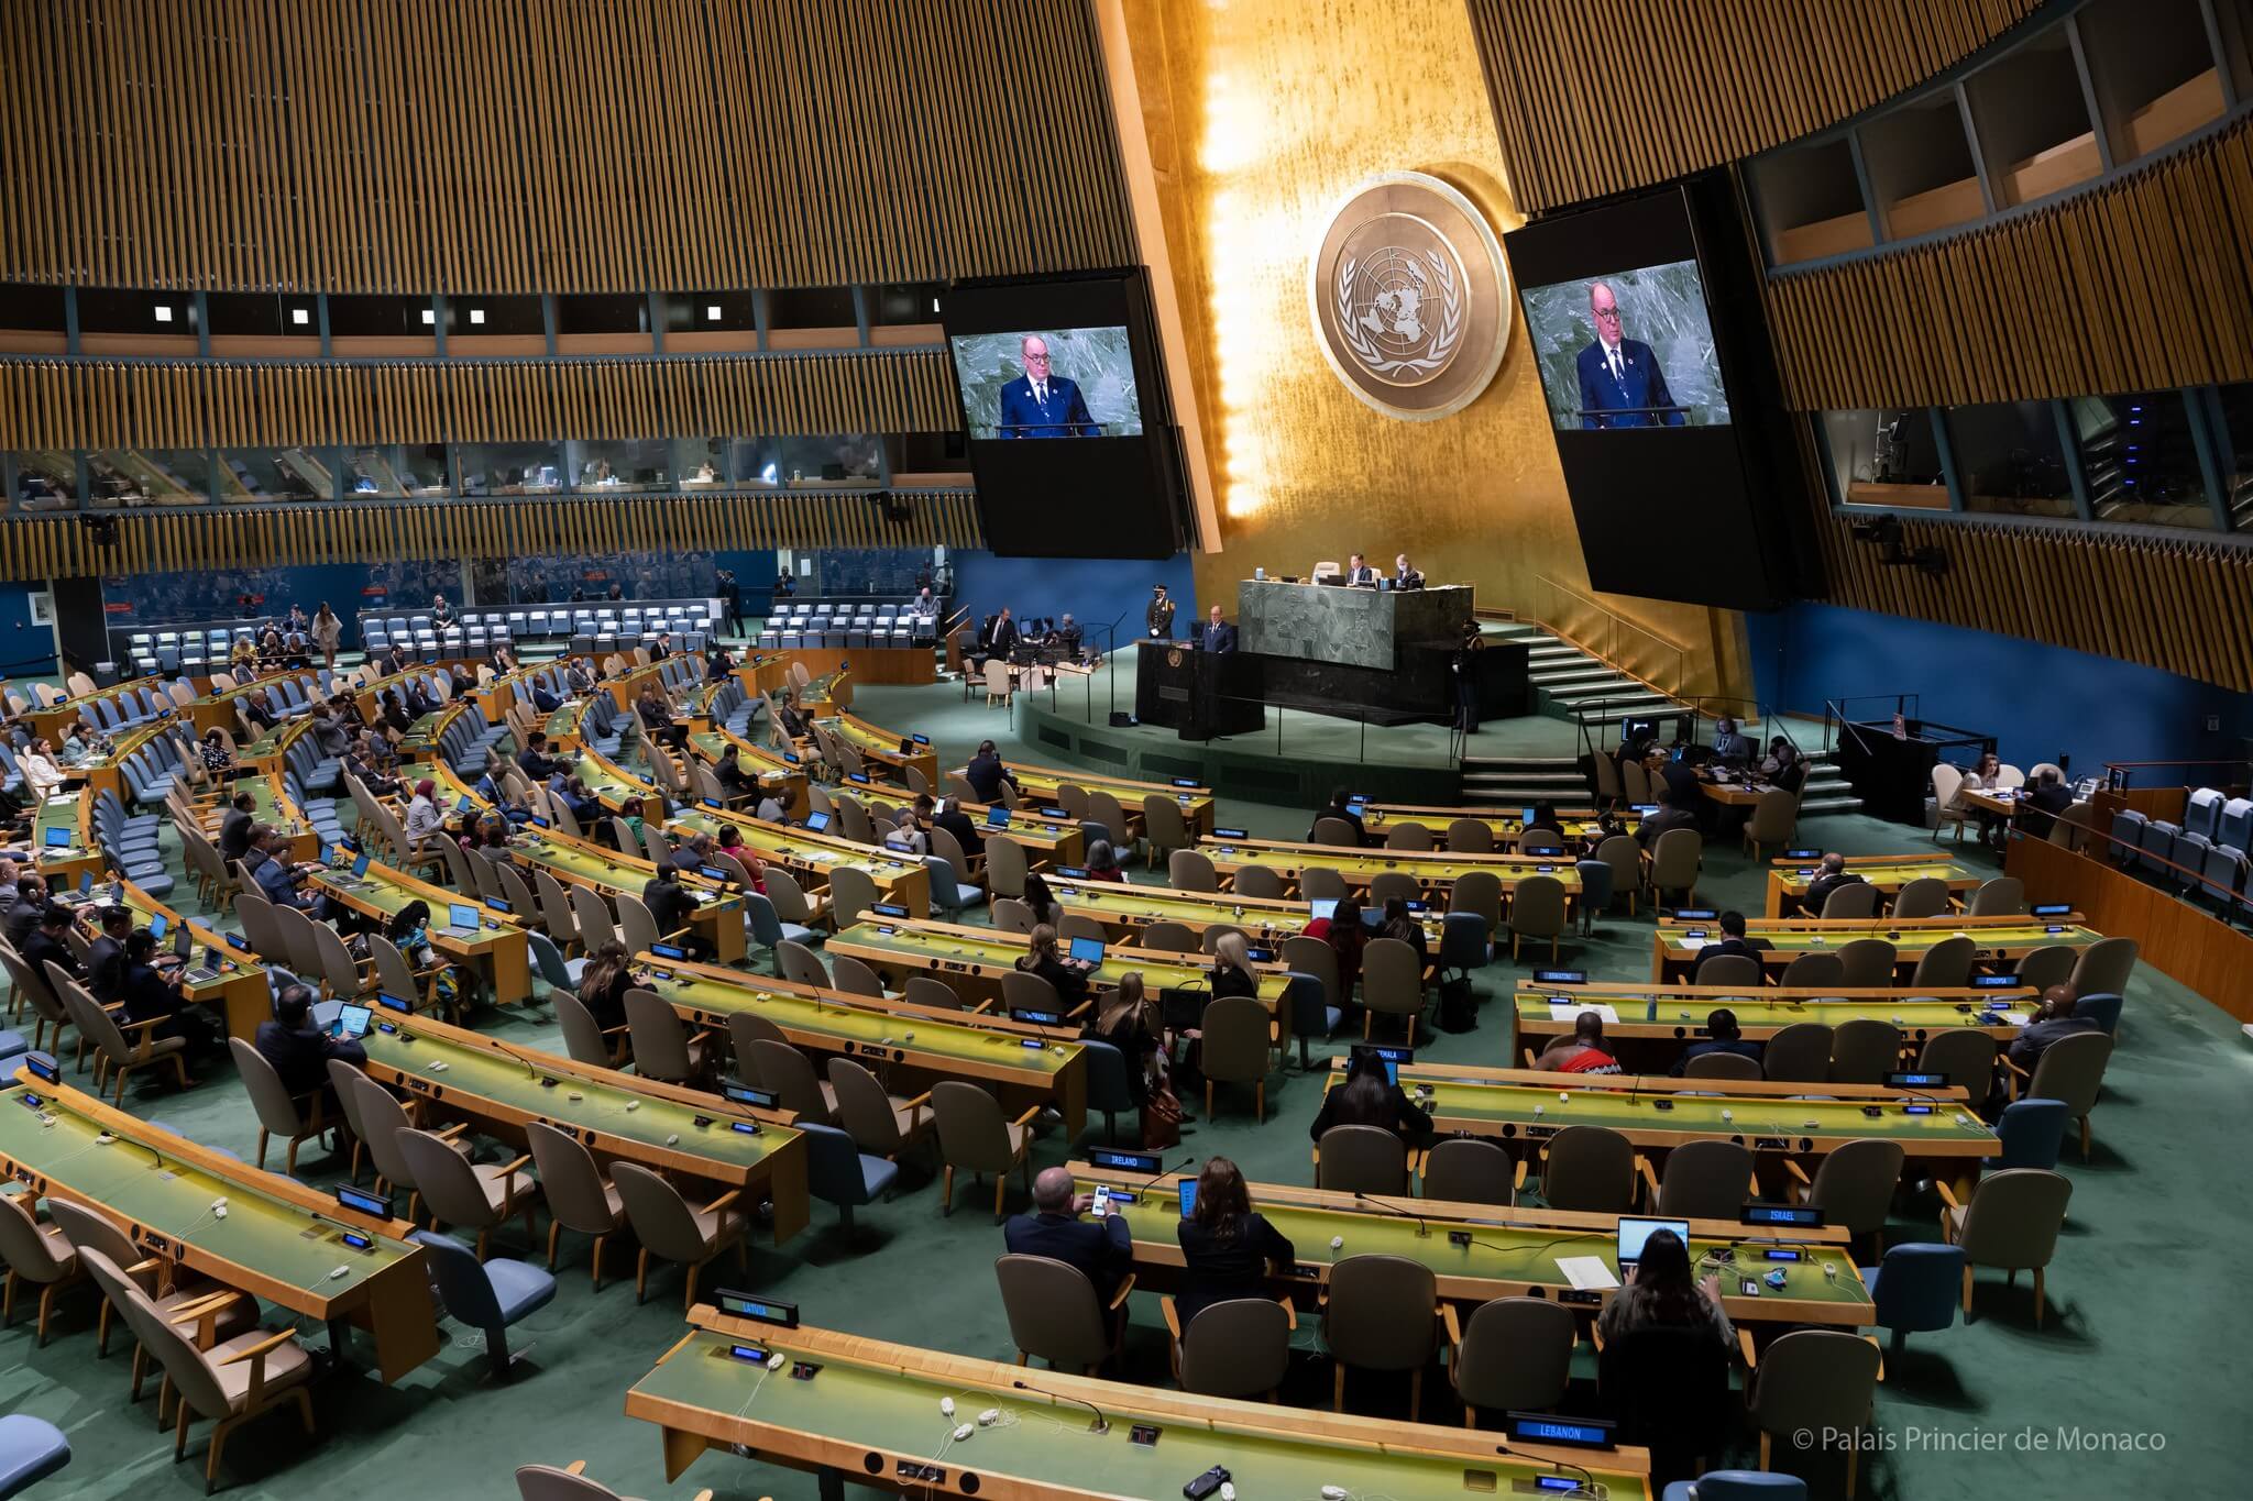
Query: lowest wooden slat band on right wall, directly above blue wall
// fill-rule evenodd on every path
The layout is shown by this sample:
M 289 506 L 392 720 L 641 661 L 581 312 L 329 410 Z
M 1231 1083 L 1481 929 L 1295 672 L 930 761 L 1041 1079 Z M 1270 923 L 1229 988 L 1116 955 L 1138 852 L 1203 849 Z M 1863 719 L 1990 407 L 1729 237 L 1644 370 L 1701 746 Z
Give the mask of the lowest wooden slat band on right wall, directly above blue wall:
M 2050 527 L 1902 520 L 1949 572 L 1884 567 L 1841 515 L 1818 538 L 1836 605 L 1969 626 L 2253 691 L 2253 549 Z

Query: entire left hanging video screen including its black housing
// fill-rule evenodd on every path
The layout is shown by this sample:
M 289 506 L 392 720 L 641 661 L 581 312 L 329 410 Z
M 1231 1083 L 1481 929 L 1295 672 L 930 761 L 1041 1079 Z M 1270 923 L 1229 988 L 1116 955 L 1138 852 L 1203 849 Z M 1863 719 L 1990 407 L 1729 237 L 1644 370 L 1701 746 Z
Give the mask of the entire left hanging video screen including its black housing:
M 1185 484 L 1142 270 L 958 281 L 944 320 L 987 547 L 1174 556 Z

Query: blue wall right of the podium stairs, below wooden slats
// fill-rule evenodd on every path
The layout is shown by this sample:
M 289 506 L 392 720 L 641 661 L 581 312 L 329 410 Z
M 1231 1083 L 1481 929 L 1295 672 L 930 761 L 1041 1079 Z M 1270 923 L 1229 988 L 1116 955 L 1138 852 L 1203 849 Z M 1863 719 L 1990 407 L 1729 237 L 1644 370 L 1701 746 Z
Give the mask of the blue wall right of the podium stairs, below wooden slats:
M 1915 693 L 1924 718 L 1996 736 L 2003 761 L 2021 767 L 2059 752 L 2077 776 L 2107 761 L 2242 758 L 2253 736 L 2244 693 L 2043 641 L 1818 603 L 1748 614 L 1746 626 L 1762 704 L 1820 716 L 1834 698 Z M 2206 729 L 2208 716 L 2219 729 Z

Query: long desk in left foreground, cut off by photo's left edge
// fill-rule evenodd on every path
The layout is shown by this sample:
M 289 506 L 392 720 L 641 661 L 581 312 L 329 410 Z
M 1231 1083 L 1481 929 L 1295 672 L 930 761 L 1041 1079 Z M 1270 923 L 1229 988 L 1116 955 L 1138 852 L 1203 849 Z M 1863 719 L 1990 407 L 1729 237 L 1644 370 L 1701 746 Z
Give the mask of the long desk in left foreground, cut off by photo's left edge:
M 25 1094 L 45 1103 L 52 1125 L 23 1105 Z M 101 1132 L 117 1141 L 97 1145 Z M 38 1195 L 99 1204 L 151 1253 L 324 1321 L 331 1350 L 342 1350 L 345 1323 L 369 1330 L 385 1382 L 437 1355 L 430 1274 L 421 1247 L 408 1242 L 412 1224 L 345 1208 L 336 1195 L 261 1172 L 68 1085 L 45 1085 L 29 1069 L 0 1089 L 0 1172 Z M 225 1220 L 212 1215 L 221 1195 Z M 347 1247 L 347 1229 L 374 1235 L 374 1244 Z M 347 1274 L 329 1276 L 336 1267 Z

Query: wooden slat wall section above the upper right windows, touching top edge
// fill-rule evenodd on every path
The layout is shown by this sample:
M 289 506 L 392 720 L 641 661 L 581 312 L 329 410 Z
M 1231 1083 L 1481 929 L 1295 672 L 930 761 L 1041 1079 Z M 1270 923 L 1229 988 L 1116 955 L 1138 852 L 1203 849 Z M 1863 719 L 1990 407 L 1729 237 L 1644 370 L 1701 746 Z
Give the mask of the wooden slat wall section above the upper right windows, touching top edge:
M 2043 0 L 1469 0 L 1519 209 L 1665 182 L 1922 83 Z

